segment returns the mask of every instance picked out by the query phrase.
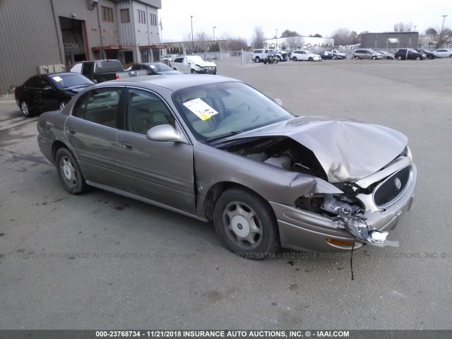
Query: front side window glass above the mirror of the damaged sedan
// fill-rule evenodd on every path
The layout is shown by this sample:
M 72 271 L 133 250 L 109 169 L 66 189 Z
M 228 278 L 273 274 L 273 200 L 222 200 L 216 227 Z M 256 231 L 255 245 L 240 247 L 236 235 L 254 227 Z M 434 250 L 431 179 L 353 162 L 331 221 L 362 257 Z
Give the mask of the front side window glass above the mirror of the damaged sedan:
M 131 89 L 126 99 L 126 131 L 145 134 L 163 124 L 174 127 L 174 116 L 160 97 L 145 90 Z

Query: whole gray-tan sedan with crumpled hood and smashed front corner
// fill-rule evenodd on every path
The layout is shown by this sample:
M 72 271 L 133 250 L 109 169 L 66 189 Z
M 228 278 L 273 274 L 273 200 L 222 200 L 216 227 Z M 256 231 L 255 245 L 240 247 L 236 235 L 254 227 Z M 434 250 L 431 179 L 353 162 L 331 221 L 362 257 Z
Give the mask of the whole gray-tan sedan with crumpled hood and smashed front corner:
M 278 101 L 278 100 L 276 100 Z M 396 246 L 416 167 L 407 138 L 358 121 L 296 117 L 240 81 L 109 81 L 38 121 L 64 188 L 88 186 L 213 221 L 246 258 Z

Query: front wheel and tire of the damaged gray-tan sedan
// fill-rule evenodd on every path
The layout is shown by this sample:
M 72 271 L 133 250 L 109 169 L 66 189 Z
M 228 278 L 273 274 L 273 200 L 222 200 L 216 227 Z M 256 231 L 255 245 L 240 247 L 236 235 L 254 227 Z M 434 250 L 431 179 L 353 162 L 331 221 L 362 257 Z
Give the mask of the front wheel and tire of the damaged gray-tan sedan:
M 261 260 L 280 249 L 273 210 L 252 191 L 224 191 L 215 204 L 213 220 L 218 236 L 239 256 Z

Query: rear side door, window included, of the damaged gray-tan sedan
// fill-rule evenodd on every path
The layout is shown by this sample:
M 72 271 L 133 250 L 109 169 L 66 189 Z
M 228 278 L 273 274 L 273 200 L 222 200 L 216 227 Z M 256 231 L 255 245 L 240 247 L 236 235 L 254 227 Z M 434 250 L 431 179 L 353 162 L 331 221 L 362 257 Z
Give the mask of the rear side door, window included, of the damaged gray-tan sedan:
M 121 189 L 117 116 L 124 87 L 95 88 L 78 98 L 64 133 L 86 180 Z

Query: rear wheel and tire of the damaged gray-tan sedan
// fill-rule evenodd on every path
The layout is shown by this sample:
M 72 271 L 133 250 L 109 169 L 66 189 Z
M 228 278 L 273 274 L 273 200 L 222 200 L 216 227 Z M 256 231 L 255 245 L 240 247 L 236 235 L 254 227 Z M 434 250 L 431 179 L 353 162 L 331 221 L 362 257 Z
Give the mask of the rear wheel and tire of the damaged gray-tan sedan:
M 67 148 L 60 148 L 55 159 L 57 160 L 58 176 L 64 189 L 70 194 L 81 194 L 86 191 L 88 186 L 71 151 Z

